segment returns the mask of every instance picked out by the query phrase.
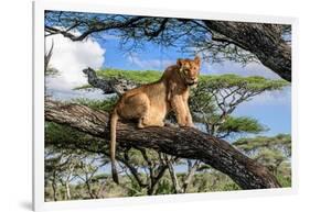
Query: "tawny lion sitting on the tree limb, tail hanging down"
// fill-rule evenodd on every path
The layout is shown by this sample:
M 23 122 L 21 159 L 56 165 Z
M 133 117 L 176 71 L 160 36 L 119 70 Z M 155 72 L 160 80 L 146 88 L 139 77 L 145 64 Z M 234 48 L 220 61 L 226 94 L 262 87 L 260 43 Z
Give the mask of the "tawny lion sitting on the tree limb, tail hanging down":
M 116 125 L 118 119 L 138 121 L 138 129 L 164 126 L 165 115 L 173 111 L 179 126 L 193 126 L 188 99 L 190 87 L 197 83 L 201 59 L 178 59 L 168 67 L 162 77 L 152 83 L 126 91 L 110 114 L 111 174 L 119 183 L 116 170 Z

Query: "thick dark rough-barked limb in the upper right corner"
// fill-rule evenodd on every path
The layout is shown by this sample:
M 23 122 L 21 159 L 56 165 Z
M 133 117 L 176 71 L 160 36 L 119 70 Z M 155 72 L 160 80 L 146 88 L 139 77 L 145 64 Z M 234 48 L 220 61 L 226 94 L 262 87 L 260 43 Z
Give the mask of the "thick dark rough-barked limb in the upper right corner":
M 256 55 L 266 67 L 291 81 L 291 46 L 281 37 L 277 24 L 204 21 L 205 25 L 224 36 L 213 40 L 228 42 Z

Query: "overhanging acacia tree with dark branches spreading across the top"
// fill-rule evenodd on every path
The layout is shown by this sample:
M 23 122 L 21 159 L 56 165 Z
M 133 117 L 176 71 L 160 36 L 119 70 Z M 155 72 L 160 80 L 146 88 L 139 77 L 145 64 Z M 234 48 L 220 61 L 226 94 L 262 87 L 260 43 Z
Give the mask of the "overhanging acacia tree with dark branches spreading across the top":
M 100 36 L 101 32 L 120 38 L 129 49 L 148 42 L 164 46 L 195 47 L 207 52 L 211 60 L 226 58 L 239 63 L 260 62 L 291 80 L 290 25 L 228 21 L 150 18 L 81 12 L 45 12 L 45 36 L 62 34 L 72 41 Z M 76 33 L 79 32 L 79 33 Z

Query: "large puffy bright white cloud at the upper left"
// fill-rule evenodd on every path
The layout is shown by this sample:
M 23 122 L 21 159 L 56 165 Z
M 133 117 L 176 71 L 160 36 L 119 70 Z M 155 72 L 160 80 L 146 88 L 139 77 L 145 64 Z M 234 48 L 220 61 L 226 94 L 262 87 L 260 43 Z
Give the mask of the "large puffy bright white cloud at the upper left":
M 75 34 L 78 34 L 75 32 Z M 105 49 L 92 40 L 72 42 L 63 35 L 49 36 L 45 40 L 46 52 L 54 43 L 50 66 L 58 70 L 55 77 L 47 77 L 47 87 L 53 90 L 71 90 L 85 85 L 87 79 L 83 69 L 100 68 L 104 63 Z

